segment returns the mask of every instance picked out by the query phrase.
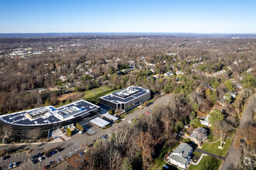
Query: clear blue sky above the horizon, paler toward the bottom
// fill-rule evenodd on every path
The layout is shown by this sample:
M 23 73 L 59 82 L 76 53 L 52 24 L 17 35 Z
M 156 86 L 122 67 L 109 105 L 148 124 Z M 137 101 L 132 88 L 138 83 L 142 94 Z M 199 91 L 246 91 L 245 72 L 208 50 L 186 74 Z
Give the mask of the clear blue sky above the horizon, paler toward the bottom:
M 256 33 L 256 0 L 0 0 L 0 33 Z

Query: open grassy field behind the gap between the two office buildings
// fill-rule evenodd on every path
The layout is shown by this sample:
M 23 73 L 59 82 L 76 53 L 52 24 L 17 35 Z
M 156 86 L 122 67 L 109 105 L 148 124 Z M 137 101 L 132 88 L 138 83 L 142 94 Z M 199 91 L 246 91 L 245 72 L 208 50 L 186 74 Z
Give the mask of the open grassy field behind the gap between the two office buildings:
M 92 90 L 85 91 L 85 95 L 83 98 L 85 100 L 88 100 L 90 102 L 97 104 L 99 102 L 99 97 L 102 97 L 109 93 L 113 93 L 115 91 L 117 90 L 113 90 L 112 88 L 106 87 L 106 86 L 98 87 Z

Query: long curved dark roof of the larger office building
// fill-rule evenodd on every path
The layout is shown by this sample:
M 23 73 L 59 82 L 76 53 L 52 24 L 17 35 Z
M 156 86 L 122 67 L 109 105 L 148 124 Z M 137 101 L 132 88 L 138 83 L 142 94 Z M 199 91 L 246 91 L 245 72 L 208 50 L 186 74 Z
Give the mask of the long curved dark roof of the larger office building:
M 23 110 L 12 114 L 0 116 L 0 120 L 8 124 L 16 125 L 44 125 L 67 121 L 81 114 L 89 114 L 91 110 L 99 106 L 85 100 L 55 108 L 53 106 L 40 107 L 31 110 Z

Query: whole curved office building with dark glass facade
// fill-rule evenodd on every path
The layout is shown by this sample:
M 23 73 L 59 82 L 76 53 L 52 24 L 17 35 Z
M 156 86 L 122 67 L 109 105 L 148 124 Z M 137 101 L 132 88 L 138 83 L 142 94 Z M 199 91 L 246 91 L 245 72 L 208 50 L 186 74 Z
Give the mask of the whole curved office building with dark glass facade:
M 50 131 L 85 123 L 100 115 L 100 107 L 78 100 L 63 107 L 40 107 L 0 116 L 0 132 L 16 140 L 47 138 Z

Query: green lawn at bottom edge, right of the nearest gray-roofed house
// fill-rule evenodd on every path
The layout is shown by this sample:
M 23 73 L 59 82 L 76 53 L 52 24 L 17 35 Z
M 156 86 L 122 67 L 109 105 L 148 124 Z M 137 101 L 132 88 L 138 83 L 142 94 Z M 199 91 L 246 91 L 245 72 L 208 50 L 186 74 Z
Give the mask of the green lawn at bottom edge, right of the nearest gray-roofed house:
M 209 155 L 203 155 L 198 165 L 189 165 L 188 170 L 218 170 L 222 164 L 222 160 Z

